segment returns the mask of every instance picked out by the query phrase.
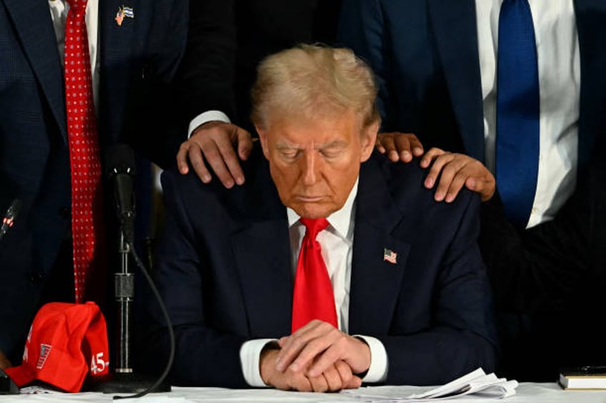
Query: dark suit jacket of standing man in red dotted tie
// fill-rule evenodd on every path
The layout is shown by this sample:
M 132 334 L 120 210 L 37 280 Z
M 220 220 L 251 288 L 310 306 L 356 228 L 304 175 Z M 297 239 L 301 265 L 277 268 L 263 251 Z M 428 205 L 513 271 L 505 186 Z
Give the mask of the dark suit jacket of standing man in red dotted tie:
M 118 26 L 123 4 L 134 18 Z M 185 1 L 99 1 L 101 151 L 122 141 L 158 163 L 174 160 L 176 148 L 160 126 L 172 114 L 157 101 L 167 96 L 186 31 Z M 0 208 L 4 214 L 10 200 L 23 202 L 0 241 L 0 349 L 15 359 L 71 225 L 71 184 L 63 69 L 48 2 L 0 0 L 0 38 Z

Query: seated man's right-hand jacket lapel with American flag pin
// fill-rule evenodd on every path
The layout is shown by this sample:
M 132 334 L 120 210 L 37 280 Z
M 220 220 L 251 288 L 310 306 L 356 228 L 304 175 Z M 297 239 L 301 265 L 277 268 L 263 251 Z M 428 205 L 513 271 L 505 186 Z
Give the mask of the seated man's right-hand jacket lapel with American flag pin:
M 360 170 L 355 219 L 349 333 L 387 334 L 410 247 L 391 235 L 403 217 L 372 158 Z M 397 253 L 395 263 L 385 249 Z

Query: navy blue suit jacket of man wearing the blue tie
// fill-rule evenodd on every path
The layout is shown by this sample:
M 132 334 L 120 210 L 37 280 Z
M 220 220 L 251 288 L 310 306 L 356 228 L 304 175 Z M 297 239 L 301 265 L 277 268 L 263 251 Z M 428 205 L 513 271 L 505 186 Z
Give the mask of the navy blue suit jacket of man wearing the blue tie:
M 606 1 L 574 0 L 580 44 L 579 174 L 606 130 Z M 369 61 L 384 131 L 484 160 L 475 0 L 344 0 L 339 43 Z

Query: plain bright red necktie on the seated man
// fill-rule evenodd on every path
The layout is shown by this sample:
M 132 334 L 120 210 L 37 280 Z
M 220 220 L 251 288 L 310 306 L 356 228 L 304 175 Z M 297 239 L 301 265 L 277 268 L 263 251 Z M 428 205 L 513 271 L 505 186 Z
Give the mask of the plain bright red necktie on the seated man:
M 337 327 L 337 309 L 334 307 L 332 285 L 322 259 L 322 249 L 316 240 L 318 233 L 327 228 L 328 221 L 326 218 L 301 218 L 300 221 L 306 230 L 294 278 L 292 332 L 314 319 L 329 322 Z

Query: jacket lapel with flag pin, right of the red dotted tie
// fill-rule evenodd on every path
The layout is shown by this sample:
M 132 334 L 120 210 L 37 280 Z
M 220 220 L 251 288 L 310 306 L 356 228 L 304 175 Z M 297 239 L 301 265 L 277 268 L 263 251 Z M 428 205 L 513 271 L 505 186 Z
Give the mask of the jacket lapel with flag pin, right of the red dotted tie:
M 99 0 L 99 30 L 101 35 L 101 113 L 100 131 L 121 134 L 128 93 L 134 49 L 136 21 L 141 20 L 138 0 Z M 123 6 L 130 7 L 134 18 L 125 17 L 119 25 L 116 14 Z M 149 7 L 152 7 L 151 5 Z M 140 23 L 139 23 L 140 24 Z M 111 138 L 118 141 L 118 138 Z

